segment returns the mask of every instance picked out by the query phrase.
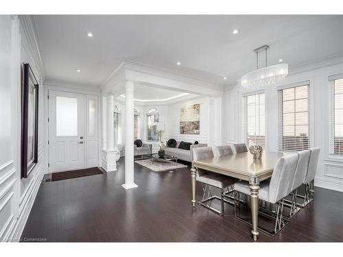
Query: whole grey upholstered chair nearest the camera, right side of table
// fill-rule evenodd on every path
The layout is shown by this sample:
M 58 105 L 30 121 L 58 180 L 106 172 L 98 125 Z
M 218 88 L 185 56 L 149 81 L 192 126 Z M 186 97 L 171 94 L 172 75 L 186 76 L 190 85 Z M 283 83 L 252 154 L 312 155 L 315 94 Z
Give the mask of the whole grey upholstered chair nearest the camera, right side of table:
M 275 235 L 285 225 L 285 219 L 283 218 L 283 199 L 291 193 L 297 162 L 298 154 L 289 154 L 288 156 L 279 158 L 279 160 L 276 161 L 272 178 L 270 180 L 265 180 L 260 184 L 259 199 L 274 204 L 276 207 L 274 230 L 270 232 L 263 228 L 259 228 L 268 234 Z M 235 183 L 234 188 L 235 193 L 239 192 L 250 195 L 250 188 L 247 182 L 237 182 Z M 235 217 L 237 217 L 236 208 L 237 200 L 235 201 Z M 240 217 L 237 218 L 241 219 Z

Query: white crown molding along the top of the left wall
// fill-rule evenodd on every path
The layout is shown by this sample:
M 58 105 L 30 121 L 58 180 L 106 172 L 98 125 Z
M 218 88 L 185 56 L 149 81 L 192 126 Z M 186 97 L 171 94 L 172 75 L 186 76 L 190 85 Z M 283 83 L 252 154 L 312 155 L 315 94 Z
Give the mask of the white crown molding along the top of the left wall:
M 29 51 L 34 58 L 35 65 L 40 73 L 41 79 L 45 78 L 45 70 L 43 66 L 43 58 L 40 54 L 40 47 L 38 43 L 38 35 L 36 28 L 36 20 L 32 15 L 19 15 L 19 21 L 23 28 L 24 36 L 27 39 Z

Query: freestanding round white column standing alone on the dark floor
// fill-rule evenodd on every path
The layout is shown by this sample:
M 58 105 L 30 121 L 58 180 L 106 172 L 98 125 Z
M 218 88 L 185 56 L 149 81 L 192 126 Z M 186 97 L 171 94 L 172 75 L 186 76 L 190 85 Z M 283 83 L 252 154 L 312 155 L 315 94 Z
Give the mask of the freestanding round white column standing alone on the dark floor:
M 138 187 L 134 184 L 134 108 L 133 82 L 125 82 L 125 184 L 123 188 Z

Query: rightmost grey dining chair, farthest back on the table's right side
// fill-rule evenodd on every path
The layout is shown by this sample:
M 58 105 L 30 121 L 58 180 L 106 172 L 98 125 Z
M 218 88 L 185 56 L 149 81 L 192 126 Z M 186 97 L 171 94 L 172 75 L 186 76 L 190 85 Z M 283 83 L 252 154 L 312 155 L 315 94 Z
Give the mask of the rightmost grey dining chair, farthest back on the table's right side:
M 316 176 L 316 170 L 318 165 L 318 159 L 320 154 L 320 148 L 314 147 L 310 149 L 311 156 L 309 157 L 309 167 L 307 173 L 303 178 L 303 184 L 305 185 L 305 195 L 296 195 L 304 199 L 303 204 L 298 204 L 300 207 L 305 207 L 311 201 L 314 200 L 314 178 Z

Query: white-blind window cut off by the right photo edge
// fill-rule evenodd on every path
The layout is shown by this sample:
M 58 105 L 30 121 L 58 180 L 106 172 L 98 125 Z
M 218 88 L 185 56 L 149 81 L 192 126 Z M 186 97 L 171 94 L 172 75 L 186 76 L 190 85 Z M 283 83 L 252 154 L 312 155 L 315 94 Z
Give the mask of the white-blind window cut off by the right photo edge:
M 343 77 L 331 80 L 330 154 L 343 155 Z

